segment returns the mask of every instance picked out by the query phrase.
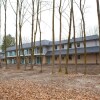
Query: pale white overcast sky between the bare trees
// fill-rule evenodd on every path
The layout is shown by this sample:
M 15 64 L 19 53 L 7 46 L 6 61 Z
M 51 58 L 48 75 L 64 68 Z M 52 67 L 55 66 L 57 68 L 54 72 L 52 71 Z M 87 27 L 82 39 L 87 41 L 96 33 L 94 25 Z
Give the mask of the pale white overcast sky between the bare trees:
M 16 0 L 10 0 L 13 8 L 16 8 Z M 26 0 L 28 4 L 25 4 L 25 7 L 28 7 L 24 23 L 22 27 L 22 37 L 23 43 L 31 41 L 31 0 Z M 52 0 L 45 0 L 46 2 L 41 3 L 41 31 L 42 31 L 42 40 L 52 40 Z M 70 0 L 69 0 L 70 1 Z M 79 3 L 79 0 L 76 0 Z M 62 39 L 67 39 L 68 37 L 68 24 L 69 24 L 69 6 L 68 0 L 62 0 Z M 55 40 L 59 40 L 59 13 L 58 13 L 59 0 L 56 0 L 55 5 Z M 86 34 L 92 35 L 96 34 L 95 30 L 98 26 L 97 21 L 97 12 L 96 12 L 96 0 L 86 0 L 85 4 L 85 22 L 86 22 Z M 81 36 L 80 34 L 80 11 L 77 5 L 74 3 L 74 14 L 75 14 L 75 26 L 76 26 L 76 36 Z M 15 37 L 15 13 L 13 12 L 9 0 L 7 5 L 7 34 L 11 34 Z M 1 39 L 4 36 L 4 7 L 1 7 Z M 72 31 L 73 36 L 73 31 Z M 37 32 L 36 40 L 39 40 L 39 31 Z

